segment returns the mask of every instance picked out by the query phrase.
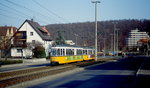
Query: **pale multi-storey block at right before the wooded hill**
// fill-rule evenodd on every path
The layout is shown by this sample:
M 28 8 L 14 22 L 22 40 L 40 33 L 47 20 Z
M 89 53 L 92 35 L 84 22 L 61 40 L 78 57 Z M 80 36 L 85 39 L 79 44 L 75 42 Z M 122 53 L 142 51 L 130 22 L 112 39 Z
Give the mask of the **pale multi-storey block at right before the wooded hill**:
M 138 29 L 131 30 L 128 38 L 126 39 L 128 51 L 138 51 L 140 40 L 148 40 L 149 35 L 147 32 L 141 32 Z

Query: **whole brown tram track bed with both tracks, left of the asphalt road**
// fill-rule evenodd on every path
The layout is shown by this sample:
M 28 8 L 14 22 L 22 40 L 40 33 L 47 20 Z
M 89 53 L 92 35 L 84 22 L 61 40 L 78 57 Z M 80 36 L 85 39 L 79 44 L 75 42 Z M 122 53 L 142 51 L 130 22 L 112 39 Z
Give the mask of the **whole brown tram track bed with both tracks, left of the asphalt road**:
M 4 88 L 21 82 L 69 71 L 77 67 L 85 67 L 96 63 L 102 63 L 102 62 L 104 61 L 101 60 L 97 62 L 85 61 L 85 62 L 78 62 L 72 64 L 58 65 L 58 66 L 47 66 L 47 67 L 31 68 L 31 69 L 0 73 L 0 88 Z

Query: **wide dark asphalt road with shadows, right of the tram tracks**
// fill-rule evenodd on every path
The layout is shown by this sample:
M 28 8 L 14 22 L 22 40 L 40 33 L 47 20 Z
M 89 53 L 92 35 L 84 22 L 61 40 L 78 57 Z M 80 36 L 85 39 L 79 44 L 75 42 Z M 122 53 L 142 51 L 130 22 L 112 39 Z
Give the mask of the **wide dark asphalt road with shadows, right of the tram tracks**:
M 28 88 L 150 88 L 149 57 L 108 62 Z

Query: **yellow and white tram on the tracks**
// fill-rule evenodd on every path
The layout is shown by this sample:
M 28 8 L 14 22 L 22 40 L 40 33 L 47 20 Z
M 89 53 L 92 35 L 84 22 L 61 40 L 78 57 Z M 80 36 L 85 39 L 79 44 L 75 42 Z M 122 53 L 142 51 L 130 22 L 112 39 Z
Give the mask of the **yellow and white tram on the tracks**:
M 57 45 L 51 47 L 51 64 L 65 64 L 71 62 L 94 60 L 95 49 L 92 47 L 78 47 L 72 45 Z

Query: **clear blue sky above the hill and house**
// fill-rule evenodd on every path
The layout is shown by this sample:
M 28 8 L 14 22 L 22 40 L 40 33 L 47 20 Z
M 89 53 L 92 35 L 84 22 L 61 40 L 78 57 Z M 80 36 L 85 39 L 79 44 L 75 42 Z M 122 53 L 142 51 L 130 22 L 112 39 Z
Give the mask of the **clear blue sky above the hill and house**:
M 20 27 L 26 19 L 40 25 L 93 22 L 95 0 L 0 0 L 0 26 Z M 99 0 L 98 21 L 150 19 L 150 0 Z

